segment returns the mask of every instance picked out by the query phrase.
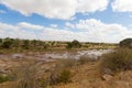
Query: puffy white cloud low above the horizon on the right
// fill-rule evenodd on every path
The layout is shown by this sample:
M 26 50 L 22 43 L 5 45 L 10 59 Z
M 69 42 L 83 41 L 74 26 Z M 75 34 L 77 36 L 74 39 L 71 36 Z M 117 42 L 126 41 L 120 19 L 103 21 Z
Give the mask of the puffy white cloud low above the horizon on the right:
M 77 29 L 81 29 L 87 32 L 88 36 L 91 37 L 90 41 L 97 42 L 119 42 L 124 37 L 132 37 L 132 29 L 121 24 L 106 24 L 99 20 L 90 19 L 90 20 L 80 20 L 76 24 Z

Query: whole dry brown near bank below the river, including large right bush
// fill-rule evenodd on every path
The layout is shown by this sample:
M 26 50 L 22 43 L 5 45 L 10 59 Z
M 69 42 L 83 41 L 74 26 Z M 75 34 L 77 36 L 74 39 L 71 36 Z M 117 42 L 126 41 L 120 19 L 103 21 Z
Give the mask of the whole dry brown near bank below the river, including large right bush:
M 87 55 L 52 62 L 2 58 L 0 67 L 4 69 L 0 88 L 132 88 L 130 48 L 117 48 L 96 59 Z

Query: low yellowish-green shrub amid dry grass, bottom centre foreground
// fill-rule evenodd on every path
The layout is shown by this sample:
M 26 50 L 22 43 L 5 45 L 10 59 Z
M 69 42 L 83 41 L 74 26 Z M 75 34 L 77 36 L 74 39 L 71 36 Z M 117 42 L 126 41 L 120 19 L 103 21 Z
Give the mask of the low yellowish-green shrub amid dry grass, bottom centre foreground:
M 76 65 L 76 59 L 59 59 L 56 63 L 54 70 L 50 76 L 50 85 L 57 85 L 61 82 L 67 84 L 70 81 L 72 72 L 70 68 Z

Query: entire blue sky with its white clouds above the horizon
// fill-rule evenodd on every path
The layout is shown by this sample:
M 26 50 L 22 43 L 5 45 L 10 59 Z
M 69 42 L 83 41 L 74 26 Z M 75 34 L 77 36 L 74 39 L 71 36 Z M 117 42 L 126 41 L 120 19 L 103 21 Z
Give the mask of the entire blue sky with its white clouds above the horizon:
M 131 0 L 0 0 L 0 37 L 118 43 L 132 37 Z

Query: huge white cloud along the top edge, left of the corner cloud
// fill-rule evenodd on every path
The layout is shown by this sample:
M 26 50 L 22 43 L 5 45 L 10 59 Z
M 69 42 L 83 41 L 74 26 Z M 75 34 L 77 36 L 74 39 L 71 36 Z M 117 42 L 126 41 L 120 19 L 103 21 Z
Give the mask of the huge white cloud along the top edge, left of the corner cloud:
M 51 19 L 70 20 L 77 12 L 102 11 L 109 0 L 0 0 L 12 10 L 24 15 L 37 13 Z

